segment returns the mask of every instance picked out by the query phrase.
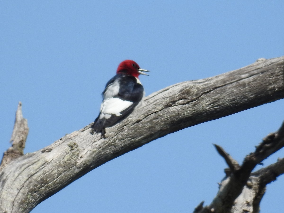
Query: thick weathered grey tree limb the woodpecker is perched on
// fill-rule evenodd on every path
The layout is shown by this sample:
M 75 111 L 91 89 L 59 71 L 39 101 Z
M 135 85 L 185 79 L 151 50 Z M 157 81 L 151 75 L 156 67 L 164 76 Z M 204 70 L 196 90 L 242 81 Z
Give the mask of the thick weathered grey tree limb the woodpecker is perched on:
M 259 59 L 239 70 L 171 85 L 146 97 L 139 113 L 107 128 L 106 138 L 91 135 L 89 124 L 39 151 L 3 161 L 0 212 L 30 212 L 87 172 L 154 139 L 284 98 L 283 60 Z

